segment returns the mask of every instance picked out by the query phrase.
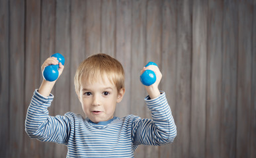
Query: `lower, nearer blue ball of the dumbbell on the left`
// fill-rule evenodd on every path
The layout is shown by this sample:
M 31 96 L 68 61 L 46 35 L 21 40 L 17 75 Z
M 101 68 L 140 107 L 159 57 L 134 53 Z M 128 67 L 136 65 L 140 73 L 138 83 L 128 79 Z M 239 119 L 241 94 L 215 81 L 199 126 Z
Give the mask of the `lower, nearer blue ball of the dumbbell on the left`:
M 43 76 L 50 82 L 57 80 L 59 76 L 58 65 L 49 65 L 44 68 Z

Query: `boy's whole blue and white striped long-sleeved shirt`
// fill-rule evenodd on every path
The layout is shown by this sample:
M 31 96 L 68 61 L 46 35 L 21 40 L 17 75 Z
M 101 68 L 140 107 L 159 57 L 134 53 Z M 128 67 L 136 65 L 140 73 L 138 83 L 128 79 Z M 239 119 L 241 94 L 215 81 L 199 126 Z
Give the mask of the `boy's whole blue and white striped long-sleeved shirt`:
M 67 145 L 67 157 L 134 157 L 140 144 L 163 145 L 173 142 L 176 126 L 165 93 L 144 100 L 152 119 L 134 115 L 114 117 L 95 124 L 75 113 L 49 116 L 54 95 L 35 90 L 28 107 L 25 130 L 30 138 Z

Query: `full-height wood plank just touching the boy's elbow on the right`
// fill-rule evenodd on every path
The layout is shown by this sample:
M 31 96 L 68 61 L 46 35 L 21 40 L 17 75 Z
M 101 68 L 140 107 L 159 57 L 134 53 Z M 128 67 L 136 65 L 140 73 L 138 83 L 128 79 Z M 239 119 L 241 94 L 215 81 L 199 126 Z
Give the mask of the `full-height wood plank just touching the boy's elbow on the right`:
M 177 138 L 174 157 L 191 157 L 191 1 L 177 1 L 177 72 L 175 109 Z

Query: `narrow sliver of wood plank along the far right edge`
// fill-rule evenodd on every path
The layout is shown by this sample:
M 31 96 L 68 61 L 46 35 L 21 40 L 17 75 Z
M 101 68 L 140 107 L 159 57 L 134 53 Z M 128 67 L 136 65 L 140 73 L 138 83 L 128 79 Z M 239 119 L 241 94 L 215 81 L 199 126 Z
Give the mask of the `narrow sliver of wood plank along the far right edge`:
M 256 0 L 253 3 L 253 40 L 256 43 Z M 251 90 L 251 158 L 256 157 L 256 45 L 253 44 L 252 53 L 252 90 Z

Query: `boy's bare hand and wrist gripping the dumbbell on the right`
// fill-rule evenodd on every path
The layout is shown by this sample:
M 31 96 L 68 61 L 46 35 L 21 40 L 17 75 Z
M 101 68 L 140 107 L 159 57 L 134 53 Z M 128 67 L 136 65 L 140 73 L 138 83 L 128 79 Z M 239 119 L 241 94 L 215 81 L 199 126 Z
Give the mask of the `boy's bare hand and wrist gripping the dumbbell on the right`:
M 160 95 L 158 86 L 159 86 L 159 83 L 161 81 L 162 74 L 161 74 L 159 68 L 155 65 L 149 65 L 147 67 L 144 66 L 144 68 L 140 71 L 140 74 L 142 74 L 145 70 L 153 70 L 153 72 L 155 72 L 155 76 L 156 76 L 155 83 L 152 84 L 151 86 L 145 86 L 145 88 L 146 88 L 146 90 L 149 94 L 149 97 L 151 99 L 153 99 L 153 98 L 158 97 Z

